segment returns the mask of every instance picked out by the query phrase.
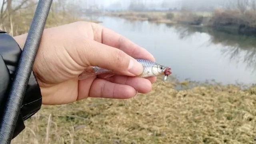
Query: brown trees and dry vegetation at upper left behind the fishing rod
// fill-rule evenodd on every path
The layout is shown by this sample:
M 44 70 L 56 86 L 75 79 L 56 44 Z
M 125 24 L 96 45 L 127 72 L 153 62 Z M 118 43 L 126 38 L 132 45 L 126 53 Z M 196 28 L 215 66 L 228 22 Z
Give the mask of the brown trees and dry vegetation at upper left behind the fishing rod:
M 0 30 L 5 30 L 12 36 L 28 32 L 37 0 L 19 0 L 16 3 L 18 5 L 13 6 L 12 0 L 3 0 L 2 5 L 0 4 Z M 79 4 L 71 5 L 65 2 L 65 0 L 53 1 L 46 22 L 46 28 L 80 20 L 91 21 L 81 18 L 80 8 Z M 92 22 L 98 23 L 96 20 Z

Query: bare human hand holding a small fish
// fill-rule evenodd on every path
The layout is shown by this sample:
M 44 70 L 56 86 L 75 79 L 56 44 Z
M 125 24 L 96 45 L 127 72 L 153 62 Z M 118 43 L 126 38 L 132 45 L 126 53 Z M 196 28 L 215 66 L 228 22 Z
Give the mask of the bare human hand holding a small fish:
M 23 49 L 27 34 L 14 37 Z M 148 93 L 156 77 L 132 77 L 142 73 L 134 58 L 155 61 L 142 47 L 99 24 L 74 22 L 44 30 L 33 71 L 44 105 L 60 105 L 102 97 L 128 99 Z M 78 80 L 88 66 L 98 66 L 120 75 Z

